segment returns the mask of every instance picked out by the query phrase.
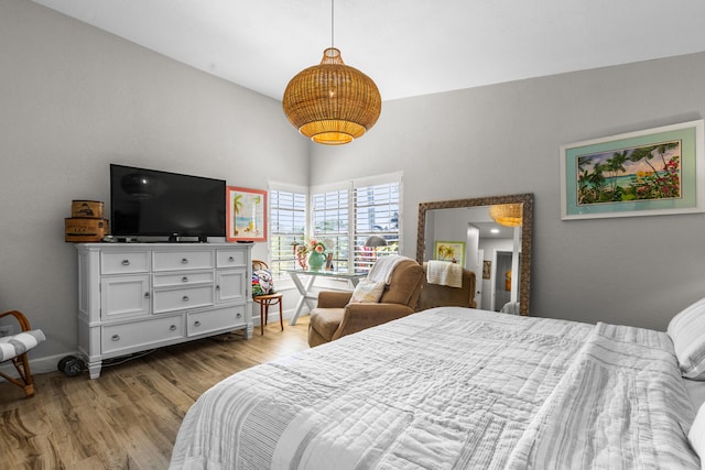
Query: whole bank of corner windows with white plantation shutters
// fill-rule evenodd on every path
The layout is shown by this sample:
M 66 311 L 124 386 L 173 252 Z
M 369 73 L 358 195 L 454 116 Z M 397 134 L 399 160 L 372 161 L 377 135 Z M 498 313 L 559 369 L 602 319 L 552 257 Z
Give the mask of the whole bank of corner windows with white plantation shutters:
M 307 196 L 310 192 L 310 196 Z M 316 186 L 270 184 L 270 267 L 278 277 L 301 269 L 294 242 L 316 239 L 336 271 L 367 272 L 384 254 L 399 253 L 401 173 Z M 370 237 L 382 247 L 366 247 Z

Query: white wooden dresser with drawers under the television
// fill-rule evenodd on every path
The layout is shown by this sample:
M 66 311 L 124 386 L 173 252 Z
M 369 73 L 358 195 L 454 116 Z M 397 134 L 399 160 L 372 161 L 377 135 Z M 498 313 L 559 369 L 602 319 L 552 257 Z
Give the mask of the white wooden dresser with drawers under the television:
M 79 243 L 78 351 L 102 360 L 242 329 L 252 337 L 251 244 Z

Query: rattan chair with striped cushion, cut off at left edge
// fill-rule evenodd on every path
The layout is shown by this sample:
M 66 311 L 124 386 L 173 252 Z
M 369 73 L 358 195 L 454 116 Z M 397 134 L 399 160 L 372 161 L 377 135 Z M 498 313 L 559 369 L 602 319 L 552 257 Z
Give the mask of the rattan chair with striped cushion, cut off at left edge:
M 18 370 L 20 378 L 15 379 L 4 374 L 3 372 L 0 372 L 0 376 L 8 382 L 20 386 L 24 390 L 26 397 L 30 398 L 34 396 L 34 379 L 30 371 L 30 360 L 28 359 L 26 351 L 44 341 L 46 337 L 41 329 L 33 330 L 30 327 L 30 323 L 26 317 L 18 310 L 10 310 L 4 314 L 0 314 L 0 318 L 9 315 L 13 316 L 20 323 L 22 332 L 0 338 L 0 362 L 12 361 L 12 364 Z

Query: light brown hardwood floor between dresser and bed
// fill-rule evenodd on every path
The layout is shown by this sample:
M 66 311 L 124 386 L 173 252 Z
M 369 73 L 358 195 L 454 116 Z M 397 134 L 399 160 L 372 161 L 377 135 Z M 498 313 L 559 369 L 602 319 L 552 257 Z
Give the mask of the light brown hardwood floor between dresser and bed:
M 191 405 L 235 372 L 308 349 L 308 317 L 284 331 L 272 321 L 241 334 L 158 349 L 85 372 L 35 375 L 36 395 L 0 384 L 1 469 L 165 469 Z

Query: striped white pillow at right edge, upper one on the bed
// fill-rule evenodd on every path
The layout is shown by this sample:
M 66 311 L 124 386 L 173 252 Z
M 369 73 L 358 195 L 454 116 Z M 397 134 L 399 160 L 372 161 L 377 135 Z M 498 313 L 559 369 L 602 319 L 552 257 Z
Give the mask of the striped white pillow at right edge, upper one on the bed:
M 666 332 L 673 340 L 682 375 L 705 380 L 705 298 L 673 317 Z

